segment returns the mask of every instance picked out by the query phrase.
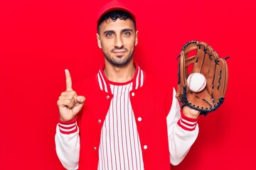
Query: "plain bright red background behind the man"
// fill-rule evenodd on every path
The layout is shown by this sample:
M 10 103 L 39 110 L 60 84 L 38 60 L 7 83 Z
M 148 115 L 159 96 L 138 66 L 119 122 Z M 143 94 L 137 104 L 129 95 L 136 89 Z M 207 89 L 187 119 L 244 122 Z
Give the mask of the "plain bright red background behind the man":
M 56 101 L 102 62 L 95 19 L 104 1 L 1 1 L 0 169 L 63 169 L 55 154 Z M 255 169 L 255 4 L 135 1 L 142 69 L 176 84 L 176 56 L 190 40 L 230 56 L 226 100 L 198 122 L 200 133 L 178 169 Z M 176 86 L 175 86 L 176 87 Z

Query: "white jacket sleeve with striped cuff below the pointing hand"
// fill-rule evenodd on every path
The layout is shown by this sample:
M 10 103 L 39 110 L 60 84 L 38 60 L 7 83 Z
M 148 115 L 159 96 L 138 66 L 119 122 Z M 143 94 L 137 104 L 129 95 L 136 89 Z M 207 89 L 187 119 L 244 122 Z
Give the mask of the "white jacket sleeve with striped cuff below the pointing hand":
M 80 136 L 76 119 L 68 123 L 58 123 L 55 134 L 55 149 L 65 169 L 78 169 Z

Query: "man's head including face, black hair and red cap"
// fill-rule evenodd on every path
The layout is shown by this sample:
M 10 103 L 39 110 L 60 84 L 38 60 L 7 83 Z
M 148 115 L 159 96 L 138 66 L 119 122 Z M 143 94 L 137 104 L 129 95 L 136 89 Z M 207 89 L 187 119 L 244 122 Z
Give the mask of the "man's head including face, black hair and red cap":
M 103 7 L 98 15 L 97 30 L 97 43 L 105 62 L 115 67 L 132 62 L 138 32 L 135 17 L 129 9 L 120 4 Z

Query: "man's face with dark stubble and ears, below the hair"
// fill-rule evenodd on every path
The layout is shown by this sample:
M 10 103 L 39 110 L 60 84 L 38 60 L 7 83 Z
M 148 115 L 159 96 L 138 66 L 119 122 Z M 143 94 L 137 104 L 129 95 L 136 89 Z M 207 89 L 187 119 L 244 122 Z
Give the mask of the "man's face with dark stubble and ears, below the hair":
M 138 43 L 137 35 L 134 23 L 129 18 L 103 21 L 97 34 L 97 42 L 105 56 L 105 62 L 110 62 L 115 67 L 131 62 L 134 47 Z

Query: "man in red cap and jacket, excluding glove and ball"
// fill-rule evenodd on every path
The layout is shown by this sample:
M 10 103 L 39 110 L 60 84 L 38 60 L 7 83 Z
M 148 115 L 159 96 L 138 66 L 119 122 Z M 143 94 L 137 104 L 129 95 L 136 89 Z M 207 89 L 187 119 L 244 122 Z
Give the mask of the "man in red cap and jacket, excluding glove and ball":
M 66 169 L 170 169 L 196 140 L 199 112 L 185 106 L 181 113 L 172 86 L 134 62 L 138 31 L 129 8 L 112 1 L 97 24 L 105 64 L 75 91 L 65 70 L 55 135 L 60 162 Z

